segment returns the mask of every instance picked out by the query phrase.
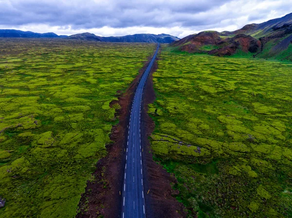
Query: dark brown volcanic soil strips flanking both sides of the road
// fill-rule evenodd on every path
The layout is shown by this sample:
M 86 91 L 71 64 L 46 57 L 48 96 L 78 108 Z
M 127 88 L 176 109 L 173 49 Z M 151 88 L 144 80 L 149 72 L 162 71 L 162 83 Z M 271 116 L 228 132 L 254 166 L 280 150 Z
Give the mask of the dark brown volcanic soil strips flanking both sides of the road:
M 152 56 L 151 56 L 152 57 Z M 118 103 L 121 109 L 117 112 L 119 116 L 118 125 L 114 126 L 111 131 L 110 139 L 113 144 L 107 145 L 108 155 L 96 164 L 96 170 L 92 173 L 93 180 L 88 181 L 86 191 L 81 196 L 79 202 L 80 212 L 76 218 L 98 218 L 101 215 L 105 218 L 120 218 L 121 214 L 121 196 L 123 185 L 123 173 L 125 166 L 125 145 L 127 124 L 129 119 L 129 109 L 134 96 L 136 86 L 140 77 L 146 70 L 151 57 L 139 71 L 139 75 L 130 84 L 125 94 L 119 96 Z M 147 104 L 155 100 L 152 73 L 156 70 L 155 62 L 151 75 L 148 78 L 144 93 L 144 111 L 142 116 L 142 146 L 143 164 L 144 164 L 144 181 L 146 193 L 146 213 L 148 218 L 181 218 L 183 214 L 183 205 L 173 198 L 171 183 L 175 182 L 173 176 L 168 174 L 161 166 L 157 165 L 149 153 L 148 135 L 154 130 L 154 123 L 147 115 Z M 116 102 L 111 102 L 111 104 Z M 147 127 L 147 128 L 145 128 Z M 147 190 L 146 190 L 147 189 Z

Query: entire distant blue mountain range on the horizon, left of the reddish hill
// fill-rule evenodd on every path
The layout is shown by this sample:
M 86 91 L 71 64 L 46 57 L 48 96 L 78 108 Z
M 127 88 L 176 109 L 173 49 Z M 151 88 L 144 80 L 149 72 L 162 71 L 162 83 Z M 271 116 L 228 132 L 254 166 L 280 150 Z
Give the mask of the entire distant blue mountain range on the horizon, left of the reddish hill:
M 100 42 L 147 42 L 147 43 L 171 43 L 179 40 L 178 37 L 168 34 L 134 34 L 125 36 L 97 36 L 90 33 L 74 34 L 74 35 L 57 35 L 54 33 L 38 34 L 30 31 L 20 30 L 0 30 L 0 37 L 18 37 L 18 38 L 66 38 L 87 41 Z

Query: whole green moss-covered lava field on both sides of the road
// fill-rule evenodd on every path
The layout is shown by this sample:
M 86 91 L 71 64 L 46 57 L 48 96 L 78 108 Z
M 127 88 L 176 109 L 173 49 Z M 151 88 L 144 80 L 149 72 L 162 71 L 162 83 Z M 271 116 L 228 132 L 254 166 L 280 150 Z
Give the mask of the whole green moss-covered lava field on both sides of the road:
M 0 40 L 0 218 L 75 217 L 118 122 L 110 102 L 155 47 Z M 291 72 L 163 46 L 151 149 L 188 218 L 292 217 Z

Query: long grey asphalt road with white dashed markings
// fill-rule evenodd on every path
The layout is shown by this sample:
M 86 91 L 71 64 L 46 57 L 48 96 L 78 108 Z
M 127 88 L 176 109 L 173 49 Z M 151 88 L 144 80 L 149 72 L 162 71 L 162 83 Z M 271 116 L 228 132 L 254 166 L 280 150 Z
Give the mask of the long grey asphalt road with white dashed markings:
M 141 149 L 141 110 L 143 90 L 155 61 L 159 43 L 146 71 L 135 91 L 128 125 L 126 166 L 122 191 L 122 218 L 145 218 L 146 205 L 143 187 L 143 165 Z

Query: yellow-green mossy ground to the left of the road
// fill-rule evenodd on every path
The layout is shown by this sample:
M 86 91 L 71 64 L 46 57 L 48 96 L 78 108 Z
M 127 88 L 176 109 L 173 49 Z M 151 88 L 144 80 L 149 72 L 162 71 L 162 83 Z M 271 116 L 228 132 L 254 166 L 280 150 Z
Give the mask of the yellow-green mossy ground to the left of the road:
M 73 218 L 154 44 L 0 40 L 0 218 Z M 118 117 L 117 117 L 118 118 Z

